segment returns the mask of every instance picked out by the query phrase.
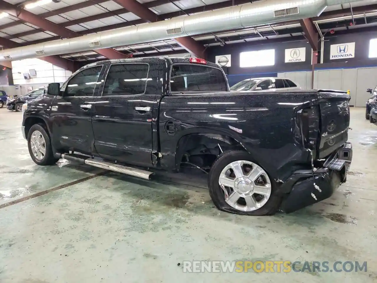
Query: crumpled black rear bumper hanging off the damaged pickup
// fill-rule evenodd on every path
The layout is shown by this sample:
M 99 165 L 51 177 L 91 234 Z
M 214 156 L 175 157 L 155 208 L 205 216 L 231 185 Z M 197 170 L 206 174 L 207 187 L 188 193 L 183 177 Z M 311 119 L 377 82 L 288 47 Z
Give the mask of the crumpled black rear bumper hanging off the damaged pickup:
M 345 143 L 330 155 L 323 168 L 294 172 L 280 187 L 283 193 L 288 193 L 280 209 L 290 213 L 331 197 L 346 181 L 351 160 L 352 144 Z

